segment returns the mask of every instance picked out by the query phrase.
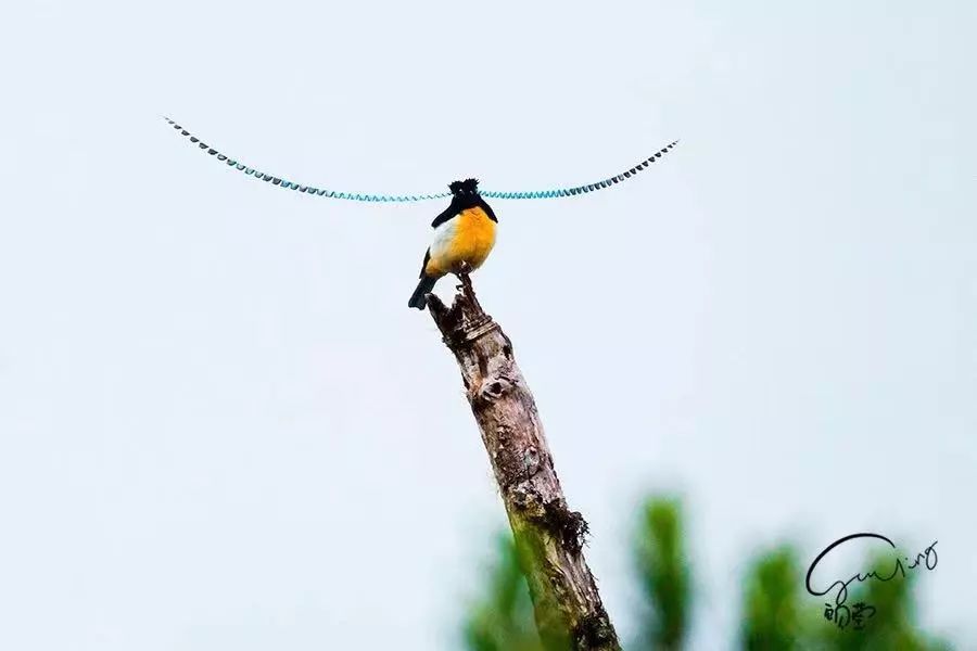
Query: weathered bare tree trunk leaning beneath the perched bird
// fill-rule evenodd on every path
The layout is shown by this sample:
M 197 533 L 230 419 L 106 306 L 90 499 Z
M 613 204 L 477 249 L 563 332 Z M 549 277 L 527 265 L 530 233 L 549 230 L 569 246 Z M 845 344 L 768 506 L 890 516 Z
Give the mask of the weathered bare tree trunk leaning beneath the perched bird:
M 547 649 L 619 651 L 620 644 L 583 557 L 587 524 L 570 511 L 533 396 L 516 366 L 512 343 L 460 275 L 451 308 L 428 295 L 428 308 L 455 354 L 468 401 L 506 505 Z

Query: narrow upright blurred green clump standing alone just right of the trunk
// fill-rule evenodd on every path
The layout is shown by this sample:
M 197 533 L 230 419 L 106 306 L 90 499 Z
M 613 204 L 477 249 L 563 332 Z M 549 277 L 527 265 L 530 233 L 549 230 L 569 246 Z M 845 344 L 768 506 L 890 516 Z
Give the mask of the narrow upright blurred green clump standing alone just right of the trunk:
M 645 601 L 636 650 L 681 649 L 688 627 L 689 563 L 677 499 L 648 499 L 635 539 Z

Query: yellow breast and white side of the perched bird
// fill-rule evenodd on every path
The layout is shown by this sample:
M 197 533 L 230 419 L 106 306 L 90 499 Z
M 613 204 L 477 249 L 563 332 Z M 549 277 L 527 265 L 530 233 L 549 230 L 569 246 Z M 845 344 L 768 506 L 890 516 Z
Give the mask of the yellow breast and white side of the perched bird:
M 461 210 L 434 229 L 431 257 L 424 275 L 441 277 L 458 271 L 461 263 L 478 269 L 495 246 L 495 221 L 475 206 Z

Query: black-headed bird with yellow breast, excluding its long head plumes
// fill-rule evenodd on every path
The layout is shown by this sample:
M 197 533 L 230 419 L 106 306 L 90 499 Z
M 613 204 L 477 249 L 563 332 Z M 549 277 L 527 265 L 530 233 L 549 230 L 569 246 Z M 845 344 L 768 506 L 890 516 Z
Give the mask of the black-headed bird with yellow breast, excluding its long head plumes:
M 478 179 L 455 181 L 448 189 L 452 203 L 431 222 L 434 241 L 424 254 L 420 282 L 410 295 L 409 307 L 424 309 L 427 295 L 439 278 L 478 269 L 495 246 L 498 219 L 479 194 Z

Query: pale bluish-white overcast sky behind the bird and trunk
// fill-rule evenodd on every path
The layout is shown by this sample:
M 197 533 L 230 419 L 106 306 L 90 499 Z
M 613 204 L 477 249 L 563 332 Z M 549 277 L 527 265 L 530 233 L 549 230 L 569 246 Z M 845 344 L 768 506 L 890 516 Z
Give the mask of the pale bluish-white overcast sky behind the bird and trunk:
M 20 2 L 0 27 L 0 648 L 456 649 L 503 509 L 406 301 L 443 204 L 627 637 L 678 490 L 696 646 L 760 544 L 939 539 L 977 643 L 973 2 Z M 442 293 L 449 291 L 445 283 Z M 570 361 L 572 359 L 572 363 Z M 820 600 L 811 598 L 810 608 Z

